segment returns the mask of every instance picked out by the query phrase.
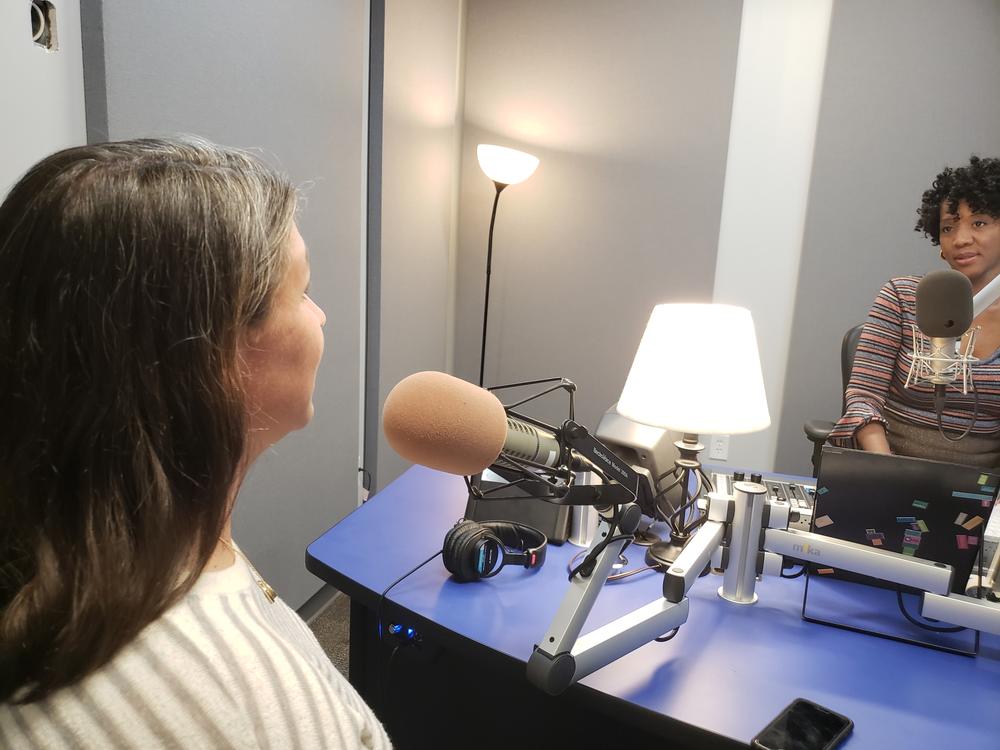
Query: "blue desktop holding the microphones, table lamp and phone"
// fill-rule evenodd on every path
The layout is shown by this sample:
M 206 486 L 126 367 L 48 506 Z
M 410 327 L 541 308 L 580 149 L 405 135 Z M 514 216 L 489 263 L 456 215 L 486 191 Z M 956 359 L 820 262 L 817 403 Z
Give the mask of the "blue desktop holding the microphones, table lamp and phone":
M 313 542 L 307 567 L 373 608 L 386 586 L 440 549 L 465 502 L 460 478 L 414 467 Z M 437 559 L 387 599 L 425 629 L 523 663 L 556 611 L 578 551 L 550 547 L 540 570 L 505 569 L 475 584 L 453 582 Z M 641 564 L 637 549 L 629 554 Z M 847 750 L 1000 747 L 993 718 L 1000 639 L 984 636 L 978 658 L 947 654 L 804 622 L 801 579 L 764 579 L 753 606 L 719 599 L 720 584 L 706 576 L 693 586 L 690 617 L 675 638 L 646 644 L 581 684 L 661 722 L 664 736 L 686 726 L 745 745 L 803 697 L 854 720 Z M 656 573 L 607 584 L 584 632 L 657 598 L 660 586 Z M 526 681 L 525 689 L 532 689 Z

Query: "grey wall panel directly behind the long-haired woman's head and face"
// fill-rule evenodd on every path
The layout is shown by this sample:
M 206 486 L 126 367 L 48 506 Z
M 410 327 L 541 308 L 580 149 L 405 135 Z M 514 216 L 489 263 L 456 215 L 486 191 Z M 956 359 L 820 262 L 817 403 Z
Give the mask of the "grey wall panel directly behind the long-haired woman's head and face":
M 104 4 L 112 139 L 190 132 L 259 149 L 298 184 L 327 314 L 316 416 L 254 467 L 234 534 L 291 606 L 306 545 L 357 503 L 367 3 Z

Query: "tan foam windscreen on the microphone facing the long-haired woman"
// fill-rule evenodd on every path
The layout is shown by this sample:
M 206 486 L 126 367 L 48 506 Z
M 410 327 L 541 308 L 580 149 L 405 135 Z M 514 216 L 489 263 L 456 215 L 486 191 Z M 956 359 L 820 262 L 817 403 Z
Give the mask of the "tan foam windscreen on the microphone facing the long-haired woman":
M 389 392 L 382 429 L 407 461 L 449 474 L 476 474 L 500 455 L 507 412 L 485 388 L 443 372 L 417 372 Z

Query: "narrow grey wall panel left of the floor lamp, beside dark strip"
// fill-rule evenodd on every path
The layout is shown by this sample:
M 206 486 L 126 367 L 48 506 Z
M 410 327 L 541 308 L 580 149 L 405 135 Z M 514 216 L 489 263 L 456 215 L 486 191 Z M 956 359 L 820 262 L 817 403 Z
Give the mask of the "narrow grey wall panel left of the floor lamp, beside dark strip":
M 407 375 L 450 369 L 463 6 L 386 3 L 379 415 Z M 383 487 L 409 464 L 377 429 Z

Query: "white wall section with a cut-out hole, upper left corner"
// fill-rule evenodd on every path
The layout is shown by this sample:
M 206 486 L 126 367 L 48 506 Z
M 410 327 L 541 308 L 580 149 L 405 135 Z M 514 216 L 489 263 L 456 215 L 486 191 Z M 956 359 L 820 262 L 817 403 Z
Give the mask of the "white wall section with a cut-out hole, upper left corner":
M 80 3 L 56 0 L 59 49 L 31 41 L 27 0 L 0 3 L 0 196 L 44 156 L 87 140 Z

